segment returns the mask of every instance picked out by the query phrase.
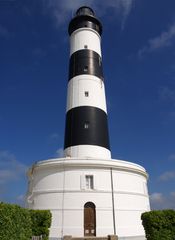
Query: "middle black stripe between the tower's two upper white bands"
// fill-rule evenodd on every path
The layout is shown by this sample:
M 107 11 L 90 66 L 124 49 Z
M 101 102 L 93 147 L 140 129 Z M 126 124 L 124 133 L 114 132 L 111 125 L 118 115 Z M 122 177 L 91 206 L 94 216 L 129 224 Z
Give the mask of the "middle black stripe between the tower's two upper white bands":
M 103 80 L 102 60 L 98 53 L 90 49 L 82 49 L 71 55 L 69 80 L 81 74 L 94 75 Z

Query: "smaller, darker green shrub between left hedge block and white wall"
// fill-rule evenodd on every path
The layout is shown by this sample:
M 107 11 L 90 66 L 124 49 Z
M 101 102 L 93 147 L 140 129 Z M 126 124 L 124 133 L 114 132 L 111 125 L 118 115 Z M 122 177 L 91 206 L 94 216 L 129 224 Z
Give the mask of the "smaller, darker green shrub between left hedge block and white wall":
M 49 228 L 51 225 L 51 213 L 49 210 L 29 210 L 32 220 L 32 235 L 43 236 L 48 240 Z

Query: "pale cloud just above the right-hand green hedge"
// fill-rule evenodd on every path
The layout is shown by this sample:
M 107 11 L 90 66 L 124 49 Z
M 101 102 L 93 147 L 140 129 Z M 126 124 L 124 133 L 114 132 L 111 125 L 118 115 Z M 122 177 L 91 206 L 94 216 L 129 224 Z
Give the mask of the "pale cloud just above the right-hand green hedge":
M 159 192 L 150 195 L 151 209 L 175 209 L 175 192 L 165 195 Z

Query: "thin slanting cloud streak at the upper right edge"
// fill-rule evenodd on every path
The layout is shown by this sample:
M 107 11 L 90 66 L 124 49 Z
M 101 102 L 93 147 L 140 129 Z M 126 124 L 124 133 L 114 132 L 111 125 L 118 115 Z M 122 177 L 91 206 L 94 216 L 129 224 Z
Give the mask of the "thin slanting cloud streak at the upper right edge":
M 139 57 L 143 57 L 145 53 L 156 51 L 173 44 L 175 39 L 175 23 L 173 23 L 167 31 L 163 31 L 159 36 L 148 40 L 148 44 L 141 48 L 138 52 Z

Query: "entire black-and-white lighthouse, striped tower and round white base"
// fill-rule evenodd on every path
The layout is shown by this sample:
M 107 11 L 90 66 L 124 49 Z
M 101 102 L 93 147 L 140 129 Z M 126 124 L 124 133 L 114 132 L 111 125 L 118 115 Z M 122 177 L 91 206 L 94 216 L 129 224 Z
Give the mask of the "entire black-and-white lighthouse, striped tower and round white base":
M 64 157 L 38 161 L 28 170 L 26 205 L 51 211 L 50 240 L 108 235 L 144 240 L 141 214 L 150 210 L 148 174 L 138 164 L 111 158 L 102 24 L 83 6 L 68 34 Z

